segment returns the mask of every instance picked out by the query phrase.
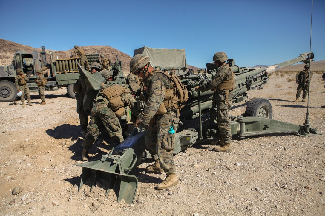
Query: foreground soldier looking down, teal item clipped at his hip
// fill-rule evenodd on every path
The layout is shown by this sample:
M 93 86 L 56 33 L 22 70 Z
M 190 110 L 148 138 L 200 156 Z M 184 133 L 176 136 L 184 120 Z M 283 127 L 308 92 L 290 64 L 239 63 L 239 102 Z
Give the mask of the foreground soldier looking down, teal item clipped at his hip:
M 149 60 L 148 56 L 137 54 L 130 62 L 132 73 L 143 78 L 149 95 L 146 107 L 139 115 L 135 125 L 137 126 L 140 122 L 149 125 L 146 131 L 145 144 L 155 162 L 148 166 L 147 170 L 166 173 L 164 181 L 157 185 L 157 189 L 162 190 L 178 183 L 173 158 L 175 133 L 169 133 L 169 129 L 173 126 L 176 131 L 179 119 L 176 110 L 165 106 L 165 102 L 166 104 L 171 103 L 170 100 L 165 99 L 165 95 L 174 97 L 167 74 L 159 68 L 153 68 L 149 64 Z

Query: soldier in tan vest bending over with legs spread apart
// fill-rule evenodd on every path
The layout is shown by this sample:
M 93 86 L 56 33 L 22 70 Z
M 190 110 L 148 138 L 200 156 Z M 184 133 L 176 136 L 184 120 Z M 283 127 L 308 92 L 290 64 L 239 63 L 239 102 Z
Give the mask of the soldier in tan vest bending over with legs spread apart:
M 124 138 L 119 117 L 125 113 L 124 107 L 129 107 L 134 114 L 137 113 L 136 100 L 130 91 L 123 86 L 113 84 L 110 86 L 102 85 L 100 96 L 94 100 L 94 106 L 90 114 L 90 122 L 87 127 L 87 134 L 82 144 L 82 160 L 88 160 L 88 149 L 90 149 L 99 135 L 99 128 L 104 126 L 114 146 L 120 144 Z M 110 100 L 108 100 L 110 98 Z M 122 102 L 122 103 L 120 103 Z M 138 113 L 137 113 L 138 114 Z

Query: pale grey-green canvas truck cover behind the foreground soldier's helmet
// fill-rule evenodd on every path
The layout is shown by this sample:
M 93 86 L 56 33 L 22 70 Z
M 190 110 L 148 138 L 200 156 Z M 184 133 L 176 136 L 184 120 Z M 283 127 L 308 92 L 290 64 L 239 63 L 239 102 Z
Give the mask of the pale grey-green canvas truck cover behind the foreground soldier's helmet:
M 187 68 L 185 49 L 156 49 L 145 46 L 134 50 L 133 56 L 136 54 L 149 56 L 153 67 Z

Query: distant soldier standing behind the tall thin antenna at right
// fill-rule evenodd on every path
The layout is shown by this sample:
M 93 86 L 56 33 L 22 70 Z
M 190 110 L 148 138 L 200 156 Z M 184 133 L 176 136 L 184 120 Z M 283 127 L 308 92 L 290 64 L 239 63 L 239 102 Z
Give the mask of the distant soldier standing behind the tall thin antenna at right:
M 298 84 L 298 87 L 297 87 L 296 100 L 294 102 L 299 101 L 301 91 L 304 91 L 302 102 L 305 102 L 305 98 L 307 97 L 308 94 L 308 82 L 313 77 L 312 71 L 310 71 L 310 77 L 308 76 L 308 70 L 309 70 L 309 66 L 305 65 L 304 70 L 300 71 L 299 75 L 296 78 L 296 83 Z

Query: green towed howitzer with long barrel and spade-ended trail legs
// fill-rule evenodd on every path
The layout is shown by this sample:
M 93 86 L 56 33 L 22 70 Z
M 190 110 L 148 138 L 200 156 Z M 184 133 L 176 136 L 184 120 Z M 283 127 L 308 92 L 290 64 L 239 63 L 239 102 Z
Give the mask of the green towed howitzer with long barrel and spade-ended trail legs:
M 237 87 L 236 90 L 234 90 L 234 101 L 236 102 L 236 98 L 239 98 L 238 100 L 243 100 L 245 97 L 244 93 L 247 90 L 260 89 L 263 87 L 263 85 L 267 82 L 268 73 L 273 73 L 274 71 L 279 70 L 284 66 L 288 66 L 296 62 L 308 60 L 311 60 L 309 59 L 308 54 L 301 54 L 294 60 L 290 60 L 288 62 L 273 65 L 270 67 L 239 68 L 237 66 L 232 66 L 233 70 L 236 73 Z M 80 73 L 85 72 L 80 69 L 82 68 L 79 68 Z M 183 81 L 184 83 L 188 84 L 187 87 L 189 90 L 191 90 L 202 81 L 208 80 L 209 77 L 211 79 L 212 76 L 214 76 L 214 73 L 215 71 L 207 74 L 202 74 L 202 76 L 184 76 Z M 87 77 L 88 74 L 85 73 L 83 76 Z M 86 78 L 86 80 L 87 88 L 88 86 L 91 88 L 91 86 L 95 85 L 96 83 L 96 81 L 91 81 L 89 78 Z M 196 97 L 194 97 L 195 95 Z M 195 91 L 192 91 L 191 98 L 187 102 L 188 106 L 190 107 L 192 117 L 193 114 L 201 113 L 201 110 L 206 110 L 210 107 L 210 105 L 206 105 L 209 104 L 208 99 L 211 100 L 210 97 L 211 95 L 200 95 L 200 92 L 197 93 Z M 262 102 L 262 104 L 264 104 L 266 103 L 264 100 L 268 102 L 266 99 L 262 99 L 259 102 Z M 201 106 L 203 104 L 201 104 L 201 101 L 205 103 L 204 107 Z M 194 106 L 191 103 L 193 103 Z M 197 106 L 197 108 L 195 108 L 195 106 Z M 251 105 L 251 107 L 254 106 L 259 107 L 256 105 L 256 103 L 253 103 L 253 105 Z M 262 106 L 262 108 L 264 106 Z M 182 113 L 184 112 L 188 112 L 188 110 L 185 110 Z M 200 114 L 198 116 L 201 117 Z M 260 116 L 231 116 L 231 134 L 238 135 L 240 137 L 279 132 L 293 133 L 299 136 L 312 136 L 321 134 L 320 132 L 317 132 L 317 129 L 310 127 L 309 123 L 304 125 L 295 125 L 287 122 L 277 121 L 271 119 L 271 117 L 272 116 L 270 115 L 264 115 L 262 111 L 260 111 Z M 205 128 L 202 128 L 202 121 L 200 121 L 200 127 L 198 128 L 186 128 L 177 131 L 175 134 L 174 154 L 177 154 L 178 152 L 191 147 L 195 143 L 206 141 L 211 138 L 216 138 L 218 134 L 218 130 L 216 128 L 218 128 L 216 125 L 207 125 Z M 134 167 L 139 165 L 142 159 L 150 157 L 149 152 L 145 150 L 145 136 L 145 130 L 134 128 L 129 137 L 127 137 L 117 147 L 113 148 L 109 154 L 102 155 L 101 160 L 76 164 L 82 167 L 82 174 L 76 182 L 76 185 L 79 186 L 78 191 L 84 184 L 89 185 L 90 190 L 92 190 L 95 187 L 97 181 L 104 181 L 108 182 L 106 186 L 102 184 L 104 188 L 107 188 L 106 194 L 108 194 L 110 190 L 115 187 L 117 190 L 119 190 L 118 202 L 124 199 L 127 204 L 132 204 L 135 200 L 138 180 L 135 175 L 129 174 L 129 172 Z

